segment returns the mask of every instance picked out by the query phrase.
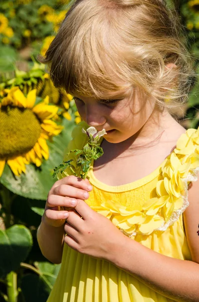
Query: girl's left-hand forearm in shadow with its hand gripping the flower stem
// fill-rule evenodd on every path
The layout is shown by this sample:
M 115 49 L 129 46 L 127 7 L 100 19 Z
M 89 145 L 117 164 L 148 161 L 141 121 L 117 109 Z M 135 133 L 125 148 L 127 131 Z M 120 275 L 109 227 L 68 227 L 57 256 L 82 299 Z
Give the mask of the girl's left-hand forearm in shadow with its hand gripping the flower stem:
M 45 212 L 37 232 L 37 240 L 42 254 L 49 261 L 59 264 L 62 260 L 64 247 L 64 225 L 77 204 L 76 198 L 87 199 L 89 181 L 68 176 L 55 182 L 49 191 Z M 84 201 L 83 201 L 84 202 Z

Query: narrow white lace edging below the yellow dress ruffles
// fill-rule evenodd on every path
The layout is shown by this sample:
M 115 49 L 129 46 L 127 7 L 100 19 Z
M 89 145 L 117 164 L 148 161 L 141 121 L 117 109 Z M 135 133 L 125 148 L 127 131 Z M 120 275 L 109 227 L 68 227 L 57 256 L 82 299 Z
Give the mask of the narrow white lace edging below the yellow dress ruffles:
M 162 225 L 160 226 L 160 228 L 153 230 L 154 231 L 165 231 L 171 224 L 173 224 L 175 221 L 177 221 L 180 217 L 180 215 L 185 211 L 185 209 L 187 208 L 187 206 L 189 205 L 188 202 L 188 182 L 192 182 L 192 181 L 197 181 L 198 176 L 197 176 L 197 172 L 199 171 L 199 167 L 192 169 L 186 178 L 182 178 L 181 180 L 184 183 L 184 189 L 185 189 L 185 195 L 181 195 L 183 197 L 183 204 L 182 207 L 176 211 L 174 211 L 169 220 L 167 222 L 163 222 Z M 142 234 L 142 235 L 146 235 L 143 234 L 141 232 L 133 232 L 131 234 L 126 233 L 124 230 L 119 229 L 124 235 L 126 235 L 127 237 L 131 238 L 137 234 Z

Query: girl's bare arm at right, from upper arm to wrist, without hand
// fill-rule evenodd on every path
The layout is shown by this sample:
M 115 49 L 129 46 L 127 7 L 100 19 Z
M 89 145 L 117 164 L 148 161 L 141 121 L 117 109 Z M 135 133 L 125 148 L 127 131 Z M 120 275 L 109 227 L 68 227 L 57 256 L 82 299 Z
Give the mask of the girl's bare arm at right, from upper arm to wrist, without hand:
M 184 212 L 185 232 L 192 261 L 161 255 L 123 237 L 109 254 L 113 264 L 133 274 L 150 288 L 178 301 L 199 301 L 199 186 L 189 189 L 189 206 Z

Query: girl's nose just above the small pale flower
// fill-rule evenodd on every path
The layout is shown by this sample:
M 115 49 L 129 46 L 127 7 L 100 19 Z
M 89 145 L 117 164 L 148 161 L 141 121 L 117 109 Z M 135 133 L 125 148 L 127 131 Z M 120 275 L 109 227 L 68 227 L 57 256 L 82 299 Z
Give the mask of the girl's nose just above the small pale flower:
M 98 106 L 87 106 L 86 108 L 86 123 L 89 126 L 97 127 L 104 125 L 106 122 L 105 115 Z

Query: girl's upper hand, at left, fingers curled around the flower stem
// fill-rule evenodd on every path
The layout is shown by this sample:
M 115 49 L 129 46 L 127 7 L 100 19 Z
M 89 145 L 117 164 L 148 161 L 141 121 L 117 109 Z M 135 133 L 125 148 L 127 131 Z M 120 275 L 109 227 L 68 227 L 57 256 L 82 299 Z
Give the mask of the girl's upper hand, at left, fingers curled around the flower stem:
M 77 199 L 87 199 L 91 190 L 88 179 L 71 175 L 58 180 L 49 191 L 42 221 L 52 226 L 62 226 L 69 216 L 68 210 L 76 206 Z

